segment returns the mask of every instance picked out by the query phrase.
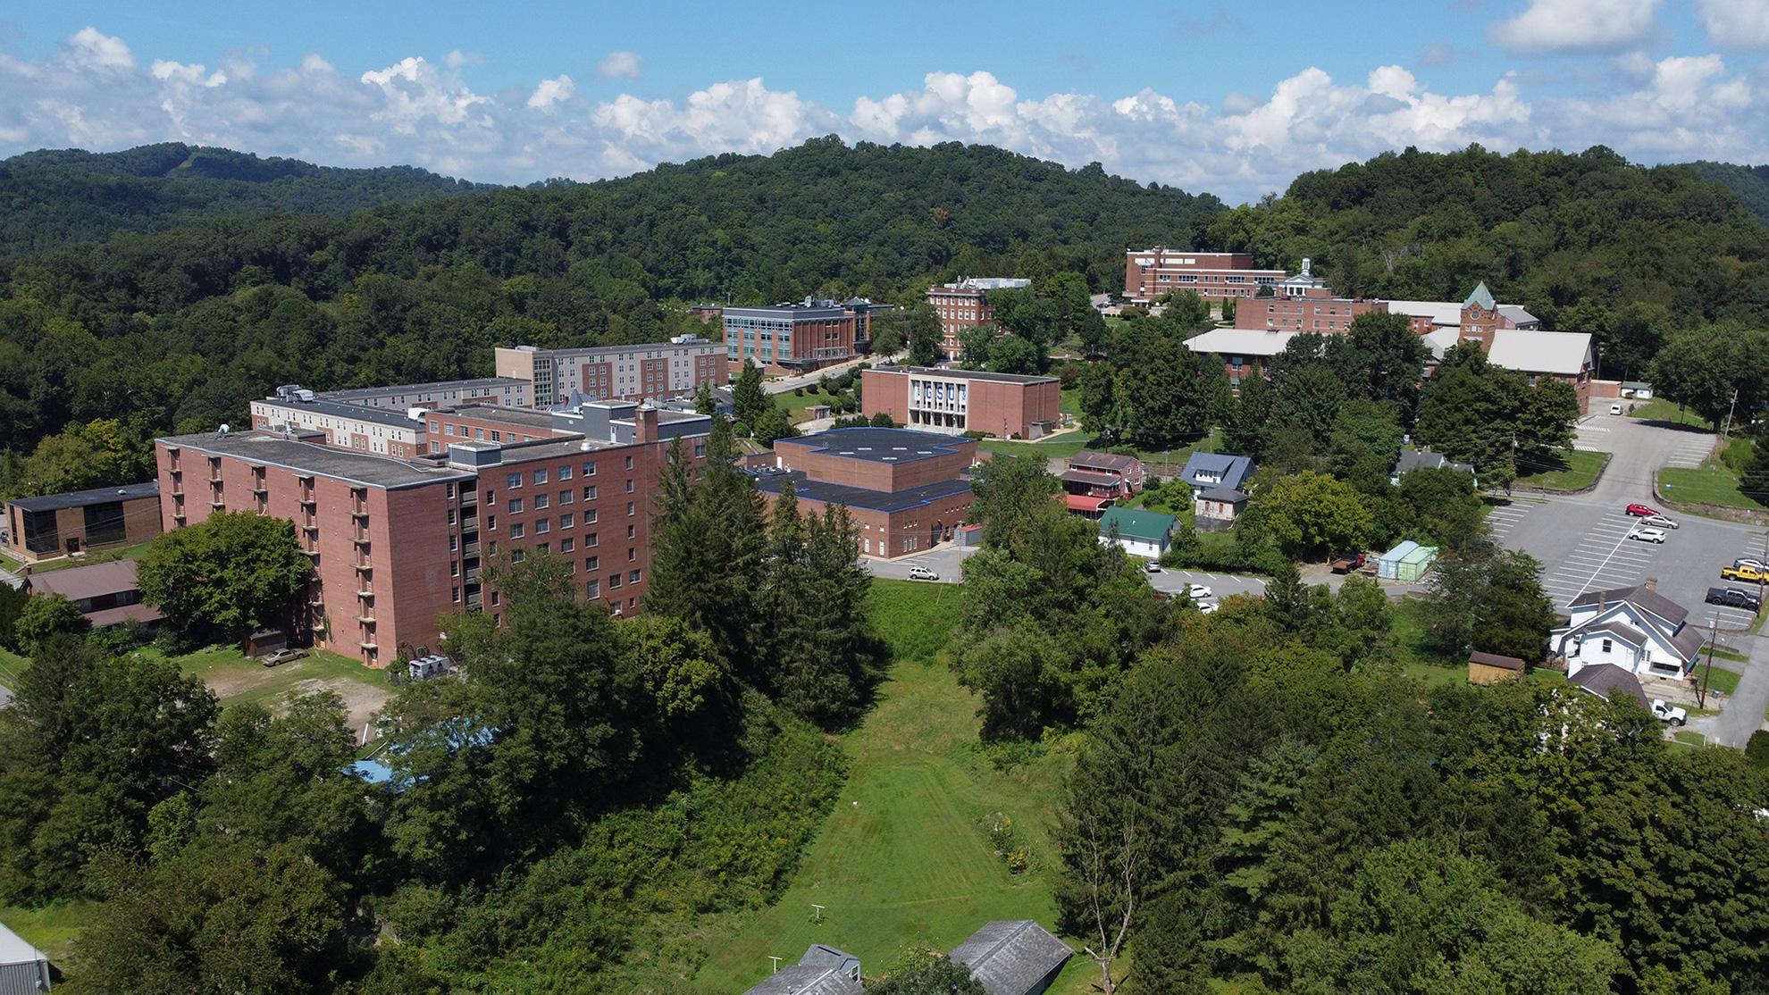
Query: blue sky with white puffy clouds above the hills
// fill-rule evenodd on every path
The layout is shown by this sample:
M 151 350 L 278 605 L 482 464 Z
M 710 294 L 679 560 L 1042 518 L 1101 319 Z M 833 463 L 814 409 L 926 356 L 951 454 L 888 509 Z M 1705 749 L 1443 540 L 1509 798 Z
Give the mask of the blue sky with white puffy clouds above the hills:
M 1769 0 L 35 4 L 0 11 L 0 154 L 527 182 L 839 133 L 1247 200 L 1405 145 L 1760 163 L 1765 58 Z

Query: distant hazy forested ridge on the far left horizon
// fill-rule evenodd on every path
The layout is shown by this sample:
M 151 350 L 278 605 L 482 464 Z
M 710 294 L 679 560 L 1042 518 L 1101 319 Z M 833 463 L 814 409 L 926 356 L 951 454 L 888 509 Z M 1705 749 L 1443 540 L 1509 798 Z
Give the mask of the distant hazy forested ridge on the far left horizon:
M 124 152 L 44 148 L 0 161 L 0 254 L 193 217 L 352 214 L 472 189 L 486 187 L 412 166 L 341 170 L 175 141 Z

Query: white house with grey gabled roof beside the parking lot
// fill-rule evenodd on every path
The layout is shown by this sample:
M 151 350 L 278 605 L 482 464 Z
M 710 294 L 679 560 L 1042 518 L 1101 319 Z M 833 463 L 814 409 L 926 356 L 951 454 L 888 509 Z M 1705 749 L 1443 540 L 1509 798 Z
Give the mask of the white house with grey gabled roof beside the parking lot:
M 1688 615 L 1647 585 L 1592 590 L 1548 634 L 1548 656 L 1566 656 L 1567 677 L 1603 663 L 1636 677 L 1684 677 L 1702 650 L 1702 631 L 1684 624 Z

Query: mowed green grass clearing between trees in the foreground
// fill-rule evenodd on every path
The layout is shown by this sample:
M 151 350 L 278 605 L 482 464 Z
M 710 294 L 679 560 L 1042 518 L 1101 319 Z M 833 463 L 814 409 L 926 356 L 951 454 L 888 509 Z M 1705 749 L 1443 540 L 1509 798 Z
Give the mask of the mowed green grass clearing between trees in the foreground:
M 991 919 L 1056 928 L 1047 820 L 1070 756 L 1058 748 L 1024 765 L 991 763 L 976 696 L 938 659 L 957 622 L 957 587 L 874 580 L 872 608 L 895 663 L 872 712 L 842 737 L 847 786 L 782 900 L 709 944 L 701 984 L 743 991 L 768 974 L 770 954 L 796 963 L 812 942 L 854 953 L 870 976 L 906 947 L 950 951 Z M 1012 817 L 1033 870 L 1010 875 L 994 855 L 980 824 L 992 813 Z M 812 903 L 824 907 L 821 923 Z M 1051 991 L 1079 995 L 1095 977 L 1077 954 Z

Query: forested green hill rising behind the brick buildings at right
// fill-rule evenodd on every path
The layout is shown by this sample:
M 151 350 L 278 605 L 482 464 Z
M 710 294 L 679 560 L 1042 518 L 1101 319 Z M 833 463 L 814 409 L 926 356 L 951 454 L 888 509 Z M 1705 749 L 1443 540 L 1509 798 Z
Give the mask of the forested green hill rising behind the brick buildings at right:
M 1208 239 L 1272 265 L 1313 254 L 1339 293 L 1461 300 L 1484 279 L 1550 327 L 1599 339 L 1633 306 L 1668 318 L 1661 334 L 1769 320 L 1769 230 L 1696 170 L 1640 168 L 1603 147 L 1390 152 L 1304 173 Z

